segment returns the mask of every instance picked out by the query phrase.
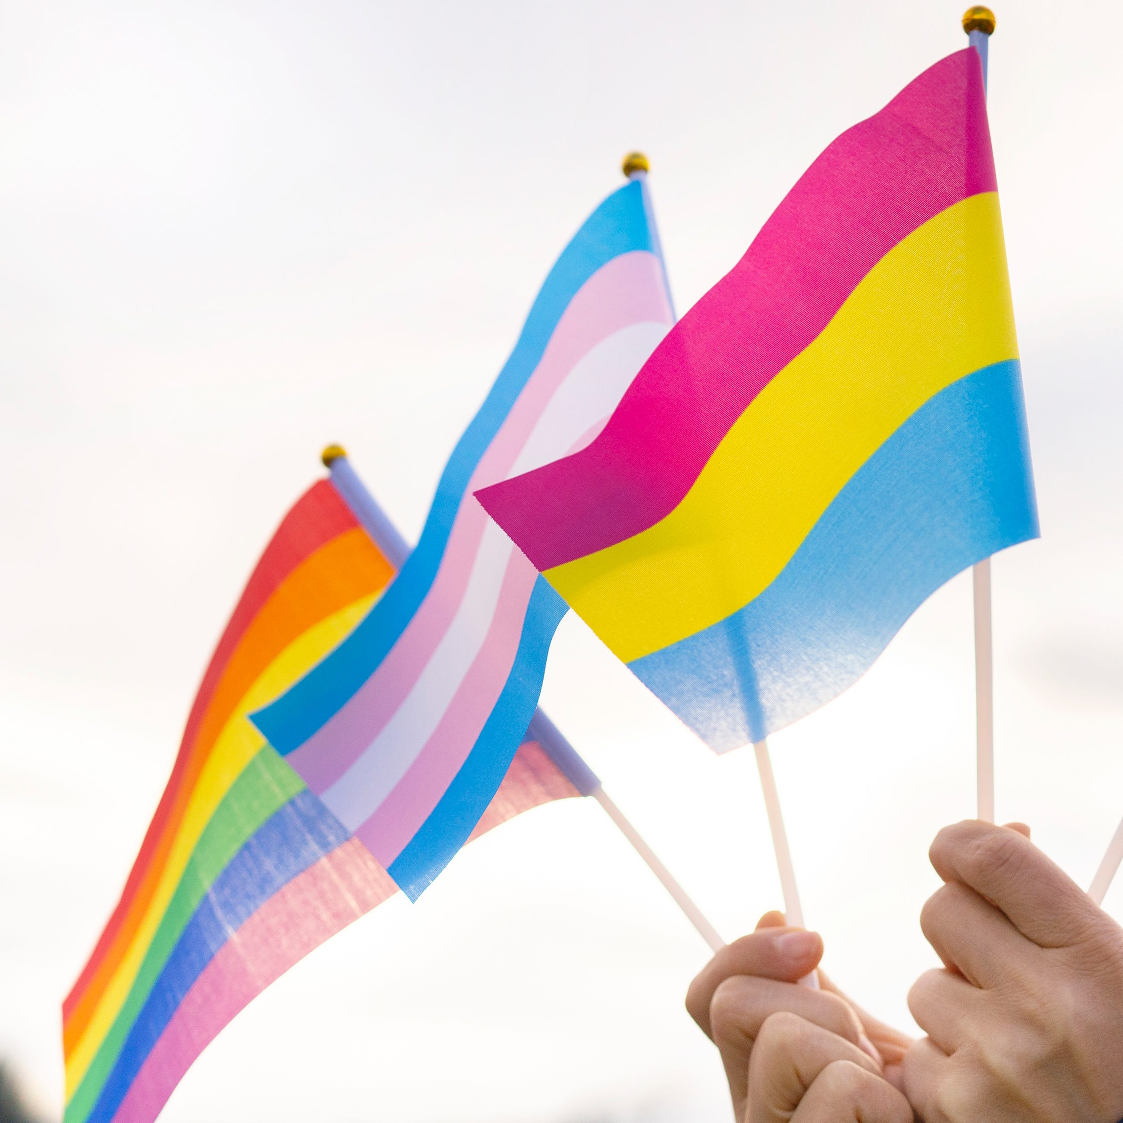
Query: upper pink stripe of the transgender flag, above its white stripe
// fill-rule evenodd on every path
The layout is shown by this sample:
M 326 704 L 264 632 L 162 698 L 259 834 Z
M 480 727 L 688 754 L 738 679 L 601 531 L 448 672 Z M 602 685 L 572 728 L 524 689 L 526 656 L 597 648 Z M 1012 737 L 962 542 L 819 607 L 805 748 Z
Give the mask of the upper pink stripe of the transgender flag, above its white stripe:
M 410 692 L 460 602 L 487 515 L 472 492 L 502 480 L 558 386 L 597 344 L 632 323 L 672 321 L 661 266 L 652 254 L 621 254 L 569 302 L 549 344 L 465 491 L 440 569 L 424 601 L 373 675 L 348 703 L 285 759 L 317 794 L 359 757 Z

